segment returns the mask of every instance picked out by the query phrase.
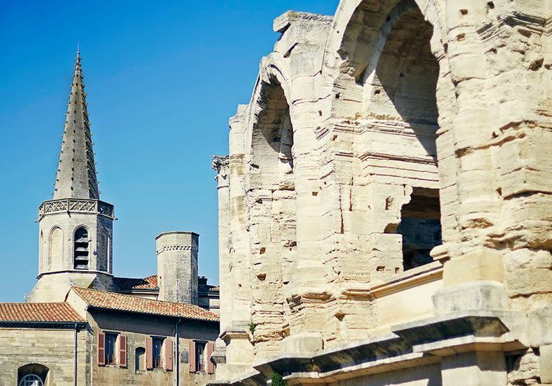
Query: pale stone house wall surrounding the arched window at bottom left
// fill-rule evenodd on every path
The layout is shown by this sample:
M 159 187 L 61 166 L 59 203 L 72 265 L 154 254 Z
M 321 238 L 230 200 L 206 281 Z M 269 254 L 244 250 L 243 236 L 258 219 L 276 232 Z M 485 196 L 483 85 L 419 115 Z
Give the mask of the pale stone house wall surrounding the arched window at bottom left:
M 90 385 L 91 334 L 77 334 L 77 383 Z M 17 385 L 17 371 L 27 364 L 47 367 L 45 386 L 73 386 L 75 330 L 0 328 L 0 385 Z

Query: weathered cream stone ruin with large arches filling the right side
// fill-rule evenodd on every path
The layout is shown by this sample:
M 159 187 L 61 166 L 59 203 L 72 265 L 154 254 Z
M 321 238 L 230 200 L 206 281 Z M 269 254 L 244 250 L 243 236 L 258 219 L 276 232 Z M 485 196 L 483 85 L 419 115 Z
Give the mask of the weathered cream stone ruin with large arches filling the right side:
M 274 21 L 213 160 L 214 384 L 552 383 L 551 9 Z

